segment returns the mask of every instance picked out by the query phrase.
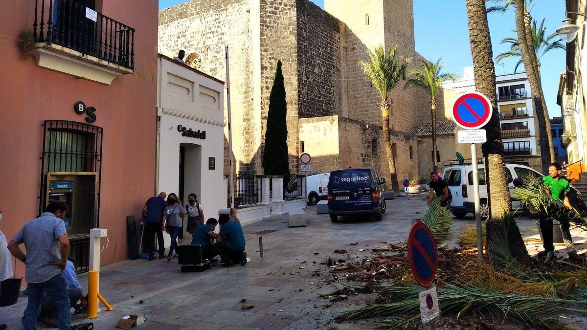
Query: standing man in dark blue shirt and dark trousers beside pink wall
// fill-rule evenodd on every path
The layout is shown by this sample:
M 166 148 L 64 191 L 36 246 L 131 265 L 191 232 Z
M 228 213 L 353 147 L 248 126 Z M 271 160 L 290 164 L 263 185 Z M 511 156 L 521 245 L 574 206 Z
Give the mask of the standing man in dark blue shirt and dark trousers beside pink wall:
M 147 242 L 147 253 L 149 254 L 149 261 L 155 260 L 155 234 L 159 243 L 159 259 L 165 258 L 165 243 L 163 241 L 163 228 L 161 221 L 163 221 L 163 210 L 165 210 L 165 197 L 167 193 L 161 191 L 159 196 L 151 197 L 143 207 L 143 220 L 145 221 L 145 240 Z

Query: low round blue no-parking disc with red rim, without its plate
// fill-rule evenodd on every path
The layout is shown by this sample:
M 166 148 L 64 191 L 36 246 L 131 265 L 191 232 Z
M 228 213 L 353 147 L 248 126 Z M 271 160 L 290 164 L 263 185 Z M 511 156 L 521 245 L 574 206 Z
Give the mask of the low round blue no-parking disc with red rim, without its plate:
M 428 287 L 436 277 L 438 252 L 434 236 L 422 221 L 411 226 L 407 240 L 407 252 L 410 256 L 411 271 L 416 282 L 423 287 Z

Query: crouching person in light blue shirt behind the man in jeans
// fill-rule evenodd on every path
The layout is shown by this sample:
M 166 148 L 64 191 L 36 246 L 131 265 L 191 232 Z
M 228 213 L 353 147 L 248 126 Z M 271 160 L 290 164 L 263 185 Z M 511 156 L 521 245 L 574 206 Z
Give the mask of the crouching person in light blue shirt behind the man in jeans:
M 73 257 L 68 258 L 65 271 L 63 271 L 63 277 L 68 285 L 68 297 L 70 307 L 76 309 L 77 313 L 82 313 L 82 309 L 86 309 L 87 302 L 83 297 L 82 286 L 77 281 L 77 275 L 75 270 L 77 268 L 77 260 Z M 41 301 L 41 310 L 37 316 L 37 322 L 45 322 L 48 325 L 57 325 L 57 308 L 55 302 L 48 296 L 43 295 Z

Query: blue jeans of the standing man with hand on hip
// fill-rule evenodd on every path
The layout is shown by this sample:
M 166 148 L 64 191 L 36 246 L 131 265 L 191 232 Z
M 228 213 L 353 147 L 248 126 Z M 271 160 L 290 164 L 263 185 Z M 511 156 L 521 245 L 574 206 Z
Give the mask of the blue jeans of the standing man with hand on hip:
M 29 283 L 28 288 L 28 304 L 26 305 L 25 315 L 23 317 L 25 330 L 36 329 L 36 319 L 39 309 L 41 309 L 43 292 L 55 302 L 59 329 L 69 330 L 72 315 L 69 305 L 68 285 L 65 282 L 63 273 L 59 273 L 45 282 Z

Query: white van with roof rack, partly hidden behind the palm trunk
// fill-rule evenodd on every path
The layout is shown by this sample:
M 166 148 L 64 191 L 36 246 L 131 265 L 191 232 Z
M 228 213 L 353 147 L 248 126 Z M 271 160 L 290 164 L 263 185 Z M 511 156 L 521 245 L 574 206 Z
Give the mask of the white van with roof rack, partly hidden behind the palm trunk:
M 489 217 L 489 207 L 487 204 L 487 186 L 485 186 L 485 164 L 478 164 L 479 177 L 479 197 L 481 200 L 481 218 Z M 510 196 L 514 187 L 514 179 L 527 177 L 528 175 L 536 178 L 543 177 L 540 172 L 519 164 L 505 164 L 505 177 L 510 188 Z M 450 210 L 453 214 L 462 218 L 468 213 L 475 212 L 473 201 L 473 165 L 457 165 L 444 169 L 444 181 L 448 184 L 453 195 L 453 201 L 450 204 Z M 512 200 L 512 210 L 517 210 L 520 206 L 519 200 Z M 474 214 L 473 214 L 474 216 Z

